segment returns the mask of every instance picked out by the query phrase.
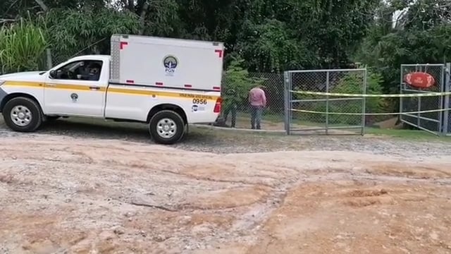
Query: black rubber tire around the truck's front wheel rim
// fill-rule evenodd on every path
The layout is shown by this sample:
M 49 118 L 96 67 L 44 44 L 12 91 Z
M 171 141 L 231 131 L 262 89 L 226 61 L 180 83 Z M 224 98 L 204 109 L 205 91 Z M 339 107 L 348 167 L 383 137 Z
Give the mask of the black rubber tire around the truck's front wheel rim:
M 19 107 L 20 109 L 20 106 L 24 107 L 22 108 L 24 112 L 30 114 L 31 116 L 30 122 L 24 126 L 16 124 L 15 120 L 11 116 L 11 111 L 16 110 L 17 108 L 15 109 L 15 107 Z M 6 126 L 11 128 L 11 130 L 18 132 L 36 131 L 36 129 L 42 124 L 41 107 L 39 107 L 39 104 L 37 104 L 37 102 L 33 99 L 29 99 L 27 97 L 16 97 L 6 102 L 3 109 L 3 117 L 5 119 Z M 17 121 L 20 121 L 20 119 L 17 119 Z M 25 120 L 22 122 L 25 123 Z

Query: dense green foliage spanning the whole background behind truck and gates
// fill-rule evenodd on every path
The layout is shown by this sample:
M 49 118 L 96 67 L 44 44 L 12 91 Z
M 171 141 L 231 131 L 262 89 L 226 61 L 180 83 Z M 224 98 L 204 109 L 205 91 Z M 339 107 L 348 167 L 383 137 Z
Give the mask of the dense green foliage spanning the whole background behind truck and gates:
M 36 69 L 47 46 L 54 61 L 108 54 L 115 32 L 225 42 L 241 99 L 238 62 L 250 73 L 359 62 L 396 92 L 401 63 L 451 61 L 449 0 L 2 0 L 0 25 L 7 71 Z

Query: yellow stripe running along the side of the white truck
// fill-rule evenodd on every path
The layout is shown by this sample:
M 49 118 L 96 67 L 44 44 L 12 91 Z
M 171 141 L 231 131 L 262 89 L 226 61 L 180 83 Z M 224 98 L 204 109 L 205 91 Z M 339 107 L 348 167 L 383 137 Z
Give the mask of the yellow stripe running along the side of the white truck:
M 44 83 L 38 82 L 19 82 L 19 81 L 6 81 L 5 87 L 44 87 Z M 99 90 L 90 90 L 89 85 L 68 85 L 68 84 L 52 84 L 45 85 L 47 89 L 62 89 L 62 90 L 80 90 L 89 92 L 105 92 L 106 87 L 101 87 Z M 183 99 L 206 99 L 209 101 L 215 101 L 218 96 L 200 95 L 186 92 L 163 92 L 156 90 L 140 90 L 130 89 L 128 87 L 109 87 L 108 92 L 119 93 L 123 95 L 145 95 L 145 96 L 159 96 L 159 97 L 179 97 Z

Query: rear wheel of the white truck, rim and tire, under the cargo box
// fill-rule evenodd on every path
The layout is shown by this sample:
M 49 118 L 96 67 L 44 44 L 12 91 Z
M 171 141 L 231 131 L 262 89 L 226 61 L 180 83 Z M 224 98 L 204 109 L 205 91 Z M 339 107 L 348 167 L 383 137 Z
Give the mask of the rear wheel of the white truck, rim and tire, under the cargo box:
M 172 145 L 183 138 L 185 123 L 175 111 L 162 110 L 154 114 L 152 119 L 150 119 L 149 132 L 156 143 Z

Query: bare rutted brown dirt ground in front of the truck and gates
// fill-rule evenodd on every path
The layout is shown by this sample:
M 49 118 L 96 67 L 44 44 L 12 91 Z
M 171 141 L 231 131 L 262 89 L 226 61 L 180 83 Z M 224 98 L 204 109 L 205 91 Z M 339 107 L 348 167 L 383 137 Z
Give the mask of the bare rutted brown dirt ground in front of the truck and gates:
M 451 157 L 0 143 L 0 253 L 451 253 Z

